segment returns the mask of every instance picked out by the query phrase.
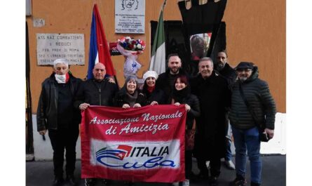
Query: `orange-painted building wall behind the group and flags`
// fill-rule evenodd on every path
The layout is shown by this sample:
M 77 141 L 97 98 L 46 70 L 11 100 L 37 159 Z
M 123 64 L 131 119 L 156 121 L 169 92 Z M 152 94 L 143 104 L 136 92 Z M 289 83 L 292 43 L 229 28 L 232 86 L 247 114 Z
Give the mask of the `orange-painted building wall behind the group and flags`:
M 41 82 L 52 72 L 51 67 L 42 67 L 36 62 L 36 33 L 84 34 L 86 64 L 70 67 L 74 76 L 86 77 L 90 25 L 93 4 L 99 7 L 105 34 L 109 42 L 121 36 L 133 36 L 146 41 L 147 48 L 139 56 L 142 68 L 138 77 L 149 67 L 150 20 L 158 20 L 163 1 L 146 0 L 145 34 L 114 34 L 114 0 L 32 0 L 32 15 L 26 20 L 29 25 L 29 53 L 31 62 L 30 84 L 32 112 L 36 113 L 41 91 Z M 226 22 L 227 52 L 230 64 L 235 67 L 240 61 L 255 62 L 259 66 L 260 78 L 268 81 L 278 112 L 286 112 L 286 58 L 285 58 L 285 0 L 228 0 L 223 20 Z M 33 27 L 34 18 L 43 18 L 46 25 Z M 181 20 L 176 0 L 168 0 L 164 20 Z M 123 56 L 112 56 L 117 79 L 123 85 Z

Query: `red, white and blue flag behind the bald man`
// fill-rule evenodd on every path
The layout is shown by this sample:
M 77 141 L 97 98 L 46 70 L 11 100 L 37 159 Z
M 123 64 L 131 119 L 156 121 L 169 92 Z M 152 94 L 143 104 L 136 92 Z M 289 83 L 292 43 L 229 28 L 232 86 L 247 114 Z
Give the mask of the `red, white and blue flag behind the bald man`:
M 90 33 L 90 49 L 89 49 L 89 66 L 87 79 L 93 78 L 93 67 L 97 62 L 102 62 L 106 67 L 106 74 L 115 76 L 113 62 L 109 53 L 104 27 L 100 17 L 97 4 L 93 6 L 91 33 Z

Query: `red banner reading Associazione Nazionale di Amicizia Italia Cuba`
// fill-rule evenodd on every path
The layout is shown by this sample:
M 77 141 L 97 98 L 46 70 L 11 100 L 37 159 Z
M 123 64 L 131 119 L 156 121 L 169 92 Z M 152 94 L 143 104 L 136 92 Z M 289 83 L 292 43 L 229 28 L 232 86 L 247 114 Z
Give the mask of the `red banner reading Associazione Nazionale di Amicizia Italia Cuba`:
M 185 180 L 184 105 L 91 106 L 81 119 L 81 178 Z

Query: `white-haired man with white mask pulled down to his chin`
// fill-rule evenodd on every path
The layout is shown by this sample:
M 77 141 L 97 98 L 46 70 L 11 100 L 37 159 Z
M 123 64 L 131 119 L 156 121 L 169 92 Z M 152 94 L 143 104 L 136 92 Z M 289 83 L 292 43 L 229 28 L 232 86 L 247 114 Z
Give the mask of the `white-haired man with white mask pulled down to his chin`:
M 80 84 L 81 79 L 69 74 L 66 59 L 55 60 L 53 73 L 42 83 L 37 109 L 37 131 L 45 135 L 48 130 L 53 148 L 54 186 L 62 185 L 64 181 L 64 150 L 67 183 L 76 185 L 74 169 L 81 114 L 79 109 L 74 109 L 74 96 Z

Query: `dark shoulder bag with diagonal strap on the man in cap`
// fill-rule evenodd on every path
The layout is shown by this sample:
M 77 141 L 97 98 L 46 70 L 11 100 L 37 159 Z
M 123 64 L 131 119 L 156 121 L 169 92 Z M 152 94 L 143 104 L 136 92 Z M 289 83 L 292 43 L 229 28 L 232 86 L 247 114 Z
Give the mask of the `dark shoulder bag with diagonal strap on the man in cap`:
M 250 107 L 249 103 L 247 102 L 247 99 L 245 98 L 244 92 L 243 92 L 243 88 L 241 83 L 239 82 L 239 91 L 240 91 L 240 96 L 243 98 L 245 105 L 247 106 L 248 111 L 250 112 L 251 116 L 252 116 L 252 120 L 255 122 L 258 131 L 259 131 L 259 140 L 262 142 L 268 142 L 269 140 L 271 140 L 271 138 L 269 138 L 269 135 L 267 133 L 264 133 L 264 128 L 266 128 L 265 126 L 265 122 L 264 124 L 259 124 L 257 122 L 256 119 L 256 114 L 254 112 L 254 110 L 252 109 L 252 107 Z

